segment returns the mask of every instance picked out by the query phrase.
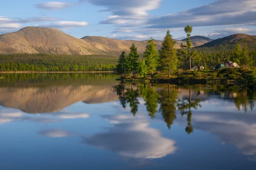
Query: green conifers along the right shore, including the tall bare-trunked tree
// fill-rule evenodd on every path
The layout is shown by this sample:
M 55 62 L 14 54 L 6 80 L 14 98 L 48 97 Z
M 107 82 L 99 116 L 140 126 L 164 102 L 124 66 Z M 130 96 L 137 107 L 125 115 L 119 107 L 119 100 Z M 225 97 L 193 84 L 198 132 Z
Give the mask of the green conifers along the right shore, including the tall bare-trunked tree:
M 223 51 L 204 51 L 209 48 L 198 48 L 200 51 L 197 51 L 196 48 L 192 49 L 190 39 L 192 30 L 193 28 L 189 25 L 184 28 L 187 36 L 186 45 L 181 43 L 180 49 L 177 50 L 174 48 L 175 40 L 172 39 L 169 30 L 159 51 L 156 50 L 154 40 L 149 40 L 142 61 L 139 60 L 140 55 L 137 53 L 137 48 L 132 44 L 129 54 L 123 51 L 119 56 L 116 73 L 122 79 L 134 77 L 133 73 L 136 73 L 136 78 L 150 77 L 150 74 L 153 75 L 156 71 L 163 76 L 170 77 L 177 69 L 192 70 L 192 66 L 201 65 L 205 69 L 212 70 L 216 65 L 226 61 L 236 62 L 242 68 L 250 70 L 256 67 L 256 50 L 248 50 L 246 44 L 242 47 L 238 44 L 232 49 L 223 48 L 225 49 Z

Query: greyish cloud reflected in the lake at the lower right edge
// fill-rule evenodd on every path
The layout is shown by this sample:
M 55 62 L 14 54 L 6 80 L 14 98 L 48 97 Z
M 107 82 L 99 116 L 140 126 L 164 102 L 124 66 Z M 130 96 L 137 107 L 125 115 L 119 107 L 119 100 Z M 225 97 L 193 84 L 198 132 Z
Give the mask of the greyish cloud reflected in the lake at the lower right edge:
M 256 155 L 255 122 L 254 114 L 194 111 L 192 116 L 194 129 L 219 136 L 221 142 L 236 145 L 244 155 Z

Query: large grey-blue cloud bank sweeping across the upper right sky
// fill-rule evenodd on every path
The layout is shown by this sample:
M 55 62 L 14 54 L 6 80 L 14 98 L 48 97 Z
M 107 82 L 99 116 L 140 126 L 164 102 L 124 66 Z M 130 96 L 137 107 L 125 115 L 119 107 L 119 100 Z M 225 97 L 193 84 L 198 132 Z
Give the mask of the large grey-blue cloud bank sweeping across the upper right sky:
M 216 0 L 214 3 L 148 20 L 150 28 L 221 26 L 256 23 L 256 0 Z

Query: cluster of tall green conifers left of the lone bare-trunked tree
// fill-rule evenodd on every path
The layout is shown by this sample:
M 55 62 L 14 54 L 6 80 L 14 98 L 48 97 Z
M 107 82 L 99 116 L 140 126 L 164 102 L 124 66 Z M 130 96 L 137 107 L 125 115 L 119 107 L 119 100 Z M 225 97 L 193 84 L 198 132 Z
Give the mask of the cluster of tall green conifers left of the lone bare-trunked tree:
M 155 71 L 161 70 L 166 72 L 168 77 L 170 77 L 171 71 L 175 71 L 177 68 L 177 56 L 174 45 L 175 40 L 172 39 L 172 35 L 168 30 L 160 50 L 157 51 L 157 45 L 151 38 L 145 48 L 144 60 L 140 61 L 137 48 L 132 44 L 129 54 L 123 51 L 119 56 L 118 64 L 116 65 L 116 73 L 119 74 L 122 79 L 134 77 L 134 73 L 136 73 L 136 76 L 144 78 L 148 74 L 154 74 Z

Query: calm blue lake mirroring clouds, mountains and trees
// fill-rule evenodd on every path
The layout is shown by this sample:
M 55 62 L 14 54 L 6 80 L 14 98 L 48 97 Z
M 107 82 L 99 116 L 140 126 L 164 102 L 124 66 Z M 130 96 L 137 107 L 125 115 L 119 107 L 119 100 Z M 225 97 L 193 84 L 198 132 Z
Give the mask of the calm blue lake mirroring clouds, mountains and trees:
M 0 74 L 1 170 L 255 170 L 256 93 Z

